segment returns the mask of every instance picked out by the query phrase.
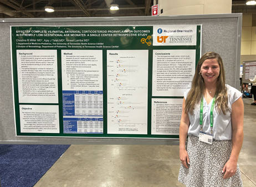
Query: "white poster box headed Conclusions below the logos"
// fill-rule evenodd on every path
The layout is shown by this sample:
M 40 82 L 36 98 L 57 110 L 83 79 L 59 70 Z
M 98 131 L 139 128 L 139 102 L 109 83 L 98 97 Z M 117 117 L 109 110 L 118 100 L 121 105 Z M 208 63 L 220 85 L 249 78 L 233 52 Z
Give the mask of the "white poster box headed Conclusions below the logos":
M 191 88 L 196 50 L 153 50 L 152 96 L 183 96 Z

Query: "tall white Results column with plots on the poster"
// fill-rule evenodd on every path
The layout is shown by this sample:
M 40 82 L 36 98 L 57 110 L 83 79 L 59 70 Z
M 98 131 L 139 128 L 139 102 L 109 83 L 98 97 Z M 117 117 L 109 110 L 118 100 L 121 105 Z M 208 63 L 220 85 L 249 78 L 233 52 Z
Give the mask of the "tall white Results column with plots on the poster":
M 147 134 L 148 50 L 107 50 L 107 133 Z

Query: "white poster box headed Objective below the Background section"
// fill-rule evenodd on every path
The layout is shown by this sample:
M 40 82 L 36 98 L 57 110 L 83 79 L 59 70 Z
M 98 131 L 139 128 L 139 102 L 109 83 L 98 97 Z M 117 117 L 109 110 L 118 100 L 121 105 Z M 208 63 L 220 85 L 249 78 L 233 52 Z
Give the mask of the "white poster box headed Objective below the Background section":
M 59 106 L 19 105 L 21 132 L 59 133 Z

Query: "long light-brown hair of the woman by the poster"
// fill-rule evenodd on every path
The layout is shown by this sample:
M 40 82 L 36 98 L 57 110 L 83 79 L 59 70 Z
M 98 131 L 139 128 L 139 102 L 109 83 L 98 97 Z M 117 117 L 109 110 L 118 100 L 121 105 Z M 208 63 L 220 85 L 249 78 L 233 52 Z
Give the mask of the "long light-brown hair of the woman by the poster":
M 214 52 L 205 53 L 197 64 L 196 72 L 194 73 L 194 77 L 192 80 L 191 90 L 188 92 L 185 102 L 185 112 L 190 112 L 191 114 L 193 113 L 195 105 L 197 105 L 201 101 L 203 93 L 206 90 L 203 77 L 199 75 L 199 72 L 201 70 L 203 62 L 207 59 L 216 59 L 218 61 L 220 70 L 217 79 L 217 89 L 215 91 L 215 108 L 218 113 L 223 112 L 223 114 L 226 115 L 226 112 L 230 109 L 228 107 L 228 94 L 225 84 L 225 71 L 221 56 Z

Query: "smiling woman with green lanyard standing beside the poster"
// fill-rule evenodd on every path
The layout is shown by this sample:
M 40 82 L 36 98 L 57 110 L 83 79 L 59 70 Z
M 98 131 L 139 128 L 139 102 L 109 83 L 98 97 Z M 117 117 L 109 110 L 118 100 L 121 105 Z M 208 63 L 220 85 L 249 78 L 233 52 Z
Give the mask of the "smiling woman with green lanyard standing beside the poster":
M 206 53 L 184 94 L 178 180 L 186 186 L 243 186 L 237 164 L 243 143 L 242 93 L 226 85 L 224 75 L 221 56 Z

